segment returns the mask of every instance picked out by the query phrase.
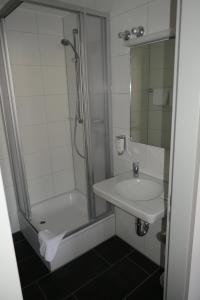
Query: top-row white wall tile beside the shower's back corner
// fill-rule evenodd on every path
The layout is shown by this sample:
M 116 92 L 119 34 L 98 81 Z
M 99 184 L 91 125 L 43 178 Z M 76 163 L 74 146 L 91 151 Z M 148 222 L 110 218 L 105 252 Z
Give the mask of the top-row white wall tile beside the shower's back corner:
M 62 36 L 62 18 L 50 14 L 37 14 L 38 32 L 41 34 L 55 34 Z

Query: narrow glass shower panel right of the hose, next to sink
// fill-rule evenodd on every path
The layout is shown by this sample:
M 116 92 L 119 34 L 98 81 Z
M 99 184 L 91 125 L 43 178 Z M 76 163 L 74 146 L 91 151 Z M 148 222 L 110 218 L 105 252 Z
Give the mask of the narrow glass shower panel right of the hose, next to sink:
M 106 131 L 106 89 L 105 89 L 105 32 L 104 18 L 86 16 L 88 92 L 90 103 L 91 152 L 94 183 L 108 176 Z M 107 212 L 108 204 L 95 196 L 95 213 Z

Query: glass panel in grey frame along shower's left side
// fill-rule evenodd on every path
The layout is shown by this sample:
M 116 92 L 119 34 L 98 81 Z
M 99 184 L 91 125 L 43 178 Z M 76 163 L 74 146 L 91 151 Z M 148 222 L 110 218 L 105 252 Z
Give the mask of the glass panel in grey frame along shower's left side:
M 0 157 L 1 169 L 5 176 L 4 179 L 9 179 L 9 182 L 4 181 L 4 185 L 12 184 L 12 179 L 15 187 L 15 195 L 18 203 L 18 208 L 26 217 L 30 217 L 29 198 L 27 193 L 27 184 L 24 177 L 24 166 L 21 163 L 21 149 L 17 143 L 18 127 L 14 116 L 16 109 L 12 94 L 12 83 L 9 80 L 8 72 L 10 72 L 8 52 L 5 47 L 4 24 L 0 22 Z M 4 117 L 3 117 L 4 116 Z M 5 121 L 5 122 L 4 122 Z M 9 144 L 9 152 L 7 143 Z M 9 159 L 10 161 L 9 161 Z M 10 166 L 13 172 L 11 178 Z M 22 182 L 21 182 L 22 181 Z

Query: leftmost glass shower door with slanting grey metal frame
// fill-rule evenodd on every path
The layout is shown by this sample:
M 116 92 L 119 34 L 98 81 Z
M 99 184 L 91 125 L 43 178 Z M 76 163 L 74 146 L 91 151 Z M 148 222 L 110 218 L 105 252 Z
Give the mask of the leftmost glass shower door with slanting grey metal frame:
M 1 122 L 3 122 L 4 125 L 1 138 L 3 138 L 3 136 L 7 138 L 8 155 L 11 162 L 12 180 L 14 183 L 18 209 L 25 218 L 30 219 L 30 200 L 21 145 L 18 143 L 19 128 L 15 118 L 16 106 L 14 102 L 12 81 L 10 78 L 11 70 L 5 42 L 4 21 L 0 20 L 0 117 Z

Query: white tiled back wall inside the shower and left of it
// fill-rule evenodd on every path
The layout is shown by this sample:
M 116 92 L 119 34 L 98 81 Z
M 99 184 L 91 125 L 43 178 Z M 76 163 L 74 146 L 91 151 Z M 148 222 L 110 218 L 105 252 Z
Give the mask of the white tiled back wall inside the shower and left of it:
M 73 190 L 63 18 L 17 9 L 6 19 L 31 204 Z M 3 127 L 1 126 L 1 136 Z M 1 167 L 12 230 L 19 230 L 5 139 Z

